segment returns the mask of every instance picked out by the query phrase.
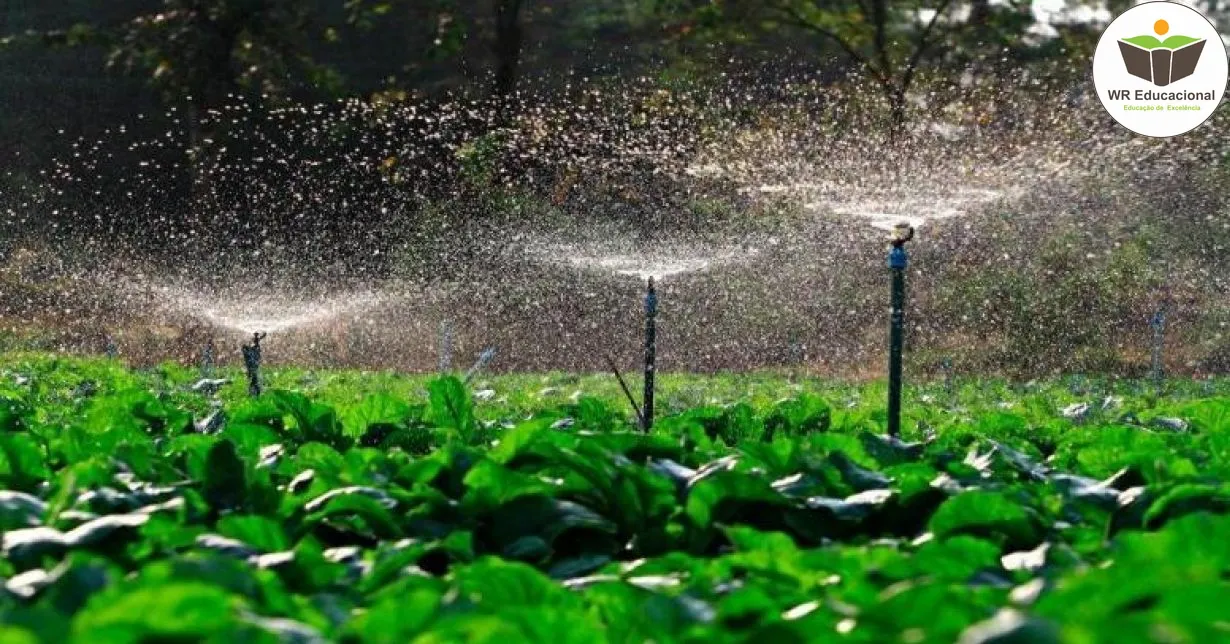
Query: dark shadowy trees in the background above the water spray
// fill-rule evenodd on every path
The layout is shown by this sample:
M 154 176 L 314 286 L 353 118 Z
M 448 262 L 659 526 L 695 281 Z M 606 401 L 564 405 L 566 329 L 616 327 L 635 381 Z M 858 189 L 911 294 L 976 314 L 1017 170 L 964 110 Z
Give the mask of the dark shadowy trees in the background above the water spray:
M 166 108 L 235 95 L 498 96 L 604 76 L 854 70 L 900 109 L 929 74 L 1084 74 L 1069 63 L 1084 68 L 1097 29 L 1074 16 L 1039 28 L 1027 0 L 5 0 L 2 162 L 31 172 L 65 140 L 117 124 L 159 133 Z

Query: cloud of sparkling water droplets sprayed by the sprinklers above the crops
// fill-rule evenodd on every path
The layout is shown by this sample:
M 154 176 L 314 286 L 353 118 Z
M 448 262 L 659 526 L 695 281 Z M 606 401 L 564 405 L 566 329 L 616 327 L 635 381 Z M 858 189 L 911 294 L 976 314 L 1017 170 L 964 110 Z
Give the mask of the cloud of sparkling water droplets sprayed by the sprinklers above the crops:
M 1096 106 L 1012 96 L 998 101 L 1017 114 L 1005 127 L 937 114 L 889 136 L 804 85 L 574 88 L 512 113 L 465 100 L 236 103 L 209 116 L 218 140 L 187 204 L 166 183 L 183 138 L 117 128 L 74 143 L 6 213 L 22 230 L 71 221 L 44 232 L 73 253 L 47 251 L 71 264 L 55 290 L 0 317 L 16 328 L 48 326 L 48 308 L 106 310 L 55 322 L 80 342 L 105 331 L 91 326 L 266 331 L 317 348 L 349 334 L 330 340 L 344 351 L 312 355 L 405 369 L 430 369 L 430 329 L 455 320 L 459 350 L 499 344 L 508 367 L 589 369 L 595 336 L 635 347 L 626 320 L 653 277 L 667 280 L 665 365 L 772 365 L 800 343 L 861 365 L 882 334 L 884 230 L 921 226 L 915 267 L 936 279 L 953 259 L 1031 261 L 1021 231 L 1096 238 L 1134 187 L 1176 181 L 1228 140 L 1214 120 L 1182 146 L 1141 141 Z M 108 166 L 121 150 L 148 159 Z M 1218 187 L 1205 192 L 1208 216 L 1224 218 Z M 918 337 L 962 333 L 930 323 Z

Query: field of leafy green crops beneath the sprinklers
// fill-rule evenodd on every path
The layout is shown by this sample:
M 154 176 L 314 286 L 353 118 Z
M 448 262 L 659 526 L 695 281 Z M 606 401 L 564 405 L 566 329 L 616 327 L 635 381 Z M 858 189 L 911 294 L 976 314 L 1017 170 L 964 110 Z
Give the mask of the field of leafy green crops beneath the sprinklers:
M 218 379 L 0 359 L 0 640 L 1230 640 L 1226 380 Z

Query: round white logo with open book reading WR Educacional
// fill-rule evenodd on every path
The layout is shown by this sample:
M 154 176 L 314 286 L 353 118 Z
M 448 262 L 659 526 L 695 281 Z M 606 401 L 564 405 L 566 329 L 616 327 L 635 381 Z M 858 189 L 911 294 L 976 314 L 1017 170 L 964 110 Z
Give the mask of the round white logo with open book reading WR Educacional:
M 1093 52 L 1093 86 L 1121 125 L 1145 136 L 1196 129 L 1221 103 L 1226 47 L 1199 11 L 1144 2 L 1114 18 Z

